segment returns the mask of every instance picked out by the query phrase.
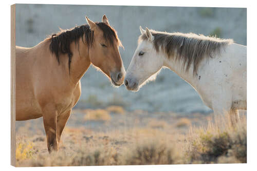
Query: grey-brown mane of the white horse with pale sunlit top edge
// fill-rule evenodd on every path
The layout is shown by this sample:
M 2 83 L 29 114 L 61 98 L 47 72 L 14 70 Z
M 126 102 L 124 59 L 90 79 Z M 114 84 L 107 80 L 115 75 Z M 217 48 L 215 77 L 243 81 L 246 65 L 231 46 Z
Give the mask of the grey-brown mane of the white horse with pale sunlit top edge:
M 194 33 L 167 33 L 150 30 L 154 36 L 153 45 L 157 52 L 160 50 L 167 58 L 182 61 L 183 67 L 188 71 L 193 64 L 193 74 L 197 74 L 197 68 L 201 60 L 207 56 L 212 58 L 215 53 L 220 53 L 226 45 L 233 43 L 231 39 L 219 39 Z M 138 41 L 148 40 L 144 34 L 139 36 Z

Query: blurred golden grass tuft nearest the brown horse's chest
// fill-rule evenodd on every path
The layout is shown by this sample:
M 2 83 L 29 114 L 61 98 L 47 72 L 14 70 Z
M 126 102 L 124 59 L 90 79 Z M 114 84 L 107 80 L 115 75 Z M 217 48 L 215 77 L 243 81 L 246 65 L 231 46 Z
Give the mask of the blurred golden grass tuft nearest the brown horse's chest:
M 109 115 L 109 112 L 107 110 L 103 110 L 103 109 L 96 109 L 96 110 L 86 109 L 85 113 L 86 113 L 86 115 L 84 116 L 84 120 L 86 120 L 86 121 L 90 121 L 90 120 L 109 121 L 109 120 L 111 120 L 111 116 Z

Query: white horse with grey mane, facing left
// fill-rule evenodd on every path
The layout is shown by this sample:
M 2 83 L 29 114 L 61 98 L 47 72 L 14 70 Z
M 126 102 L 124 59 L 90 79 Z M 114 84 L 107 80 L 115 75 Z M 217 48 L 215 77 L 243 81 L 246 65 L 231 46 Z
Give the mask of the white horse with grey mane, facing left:
M 143 30 L 126 71 L 125 86 L 138 91 L 168 67 L 198 92 L 215 114 L 238 115 L 246 105 L 246 46 L 194 33 Z M 239 119 L 239 118 L 236 118 Z

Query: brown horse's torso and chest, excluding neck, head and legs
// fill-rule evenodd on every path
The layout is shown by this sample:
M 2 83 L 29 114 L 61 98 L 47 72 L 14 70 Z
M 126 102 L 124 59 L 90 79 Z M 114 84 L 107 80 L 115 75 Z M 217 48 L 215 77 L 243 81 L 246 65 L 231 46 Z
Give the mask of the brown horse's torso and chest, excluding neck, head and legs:
M 76 85 L 70 84 L 65 66 L 67 58 L 61 59 L 59 65 L 49 51 L 49 41 L 32 48 L 16 46 L 17 121 L 42 117 L 44 107 L 49 104 L 60 114 L 78 102 L 80 81 Z

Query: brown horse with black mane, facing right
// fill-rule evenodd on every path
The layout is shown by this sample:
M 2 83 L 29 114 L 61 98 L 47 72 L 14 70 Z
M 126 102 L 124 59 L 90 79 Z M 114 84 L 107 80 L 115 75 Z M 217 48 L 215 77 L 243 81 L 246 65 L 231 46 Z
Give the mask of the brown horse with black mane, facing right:
M 123 84 L 122 46 L 107 17 L 53 34 L 32 48 L 16 46 L 16 121 L 43 117 L 49 153 L 58 150 L 80 79 L 93 64 L 115 86 Z

